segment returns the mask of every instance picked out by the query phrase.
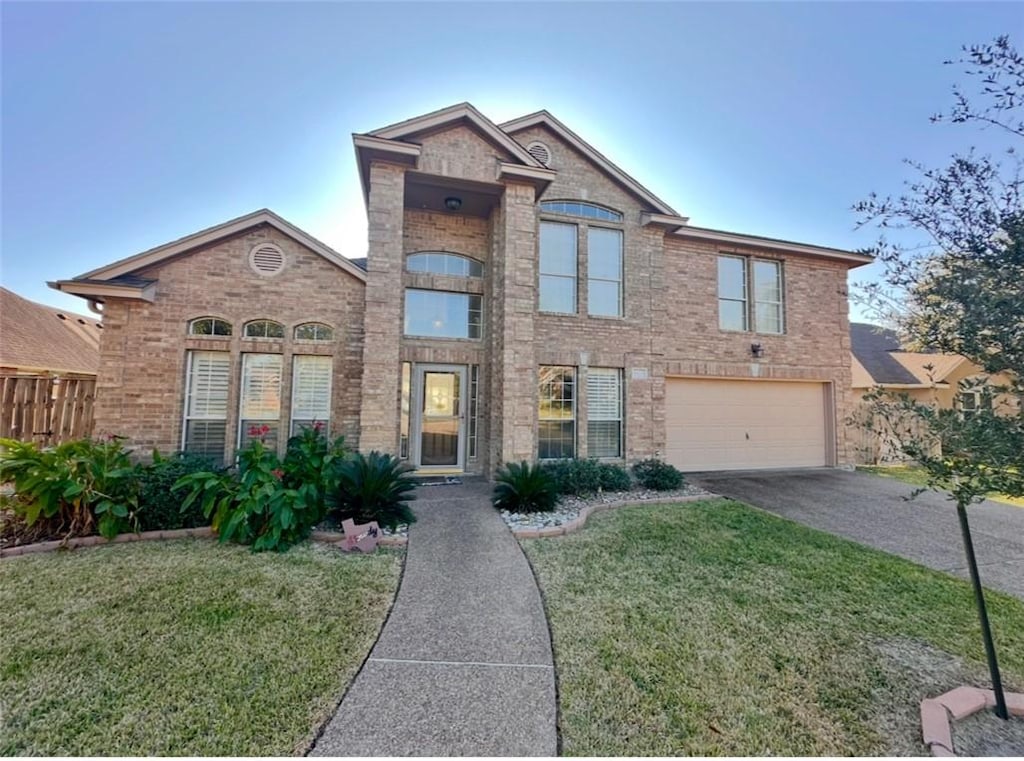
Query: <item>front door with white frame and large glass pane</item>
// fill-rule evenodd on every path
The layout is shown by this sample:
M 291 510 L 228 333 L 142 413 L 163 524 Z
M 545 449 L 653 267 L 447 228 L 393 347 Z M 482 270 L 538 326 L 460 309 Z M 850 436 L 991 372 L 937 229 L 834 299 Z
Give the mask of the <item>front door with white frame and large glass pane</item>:
M 416 369 L 417 400 L 414 440 L 421 469 L 462 470 L 465 452 L 466 368 L 420 365 Z

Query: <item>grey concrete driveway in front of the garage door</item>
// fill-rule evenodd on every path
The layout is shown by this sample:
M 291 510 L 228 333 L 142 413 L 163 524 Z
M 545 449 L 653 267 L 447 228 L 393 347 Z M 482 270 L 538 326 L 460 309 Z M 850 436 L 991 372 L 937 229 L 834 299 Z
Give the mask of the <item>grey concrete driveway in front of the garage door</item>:
M 693 473 L 723 497 L 968 578 L 956 507 L 893 478 L 844 470 Z M 1024 599 L 1024 508 L 984 502 L 970 508 L 971 534 L 986 587 Z

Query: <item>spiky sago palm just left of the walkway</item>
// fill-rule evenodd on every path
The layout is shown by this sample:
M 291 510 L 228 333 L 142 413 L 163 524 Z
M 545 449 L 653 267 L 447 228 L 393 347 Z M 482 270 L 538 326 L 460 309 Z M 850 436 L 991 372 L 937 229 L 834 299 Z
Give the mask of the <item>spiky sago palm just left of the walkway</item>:
M 416 522 L 408 504 L 416 489 L 406 475 L 412 468 L 398 458 L 381 452 L 356 454 L 336 470 L 338 485 L 328 501 L 339 518 L 356 523 L 376 520 L 384 529 Z

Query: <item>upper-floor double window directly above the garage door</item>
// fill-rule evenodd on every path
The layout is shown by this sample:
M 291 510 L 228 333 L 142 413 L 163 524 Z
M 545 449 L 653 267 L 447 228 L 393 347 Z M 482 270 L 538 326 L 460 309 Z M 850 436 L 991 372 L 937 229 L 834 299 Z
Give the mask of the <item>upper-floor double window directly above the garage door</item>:
M 719 256 L 719 328 L 782 333 L 784 324 L 781 262 Z

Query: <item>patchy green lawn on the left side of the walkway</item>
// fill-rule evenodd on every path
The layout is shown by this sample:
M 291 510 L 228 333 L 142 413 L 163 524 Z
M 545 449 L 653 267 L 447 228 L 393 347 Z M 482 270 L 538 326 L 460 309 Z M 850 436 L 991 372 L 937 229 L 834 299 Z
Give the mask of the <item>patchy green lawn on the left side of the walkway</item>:
M 400 563 L 191 540 L 0 560 L 0 755 L 301 753 Z

